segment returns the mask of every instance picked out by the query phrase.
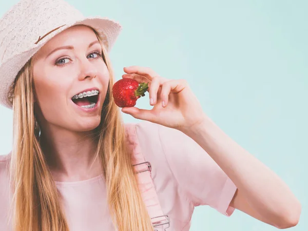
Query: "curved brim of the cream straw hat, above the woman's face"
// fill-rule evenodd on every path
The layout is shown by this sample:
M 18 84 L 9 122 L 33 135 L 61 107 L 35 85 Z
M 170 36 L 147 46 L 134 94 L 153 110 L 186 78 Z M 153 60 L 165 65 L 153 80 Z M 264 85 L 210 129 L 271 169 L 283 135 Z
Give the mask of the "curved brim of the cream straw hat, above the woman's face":
M 85 25 L 93 28 L 98 32 L 99 36 L 102 38 L 104 46 L 108 52 L 110 52 L 115 40 L 117 40 L 122 27 L 119 23 L 110 20 L 105 17 L 85 17 L 82 20 L 71 22 L 63 27 L 55 30 L 54 32 L 48 34 L 33 47 L 24 51 L 21 54 L 13 56 L 11 59 L 6 61 L 0 66 L 0 75 L 2 79 L 2 86 L 0 91 L 0 104 L 12 109 L 12 103 L 9 100 L 9 91 L 11 86 L 18 74 L 18 72 L 23 68 L 23 66 L 31 59 L 31 57 L 42 48 L 52 37 L 61 33 L 62 31 L 68 29 L 69 27 L 75 25 Z

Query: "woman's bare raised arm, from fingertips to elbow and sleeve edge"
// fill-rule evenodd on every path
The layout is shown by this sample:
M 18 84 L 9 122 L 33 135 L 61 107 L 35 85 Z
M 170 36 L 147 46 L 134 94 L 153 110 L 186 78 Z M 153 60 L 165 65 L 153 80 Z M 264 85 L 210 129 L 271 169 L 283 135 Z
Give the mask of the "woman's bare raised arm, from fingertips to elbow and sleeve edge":
M 162 78 L 146 67 L 126 67 L 124 71 L 127 74 L 123 78 L 150 82 L 149 95 L 153 108 L 122 108 L 122 112 L 176 128 L 198 143 L 237 187 L 231 202 L 235 208 L 278 228 L 298 223 L 301 205 L 287 185 L 204 114 L 187 81 Z

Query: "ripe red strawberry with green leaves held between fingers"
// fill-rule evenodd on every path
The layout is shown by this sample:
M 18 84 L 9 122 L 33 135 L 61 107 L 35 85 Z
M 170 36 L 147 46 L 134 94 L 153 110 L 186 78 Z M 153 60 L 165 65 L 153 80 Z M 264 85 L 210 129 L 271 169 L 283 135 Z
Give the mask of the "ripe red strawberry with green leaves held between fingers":
M 114 83 L 112 95 L 118 107 L 133 107 L 148 89 L 148 83 L 139 83 L 132 79 L 121 79 Z

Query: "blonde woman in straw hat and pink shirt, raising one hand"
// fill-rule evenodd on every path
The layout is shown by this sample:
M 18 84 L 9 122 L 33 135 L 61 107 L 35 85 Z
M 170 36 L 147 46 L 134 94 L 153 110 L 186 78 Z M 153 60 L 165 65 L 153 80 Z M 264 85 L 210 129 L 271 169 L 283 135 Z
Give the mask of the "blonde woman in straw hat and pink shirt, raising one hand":
M 0 25 L 0 103 L 14 111 L 13 148 L 0 162 L 1 230 L 153 230 L 137 155 L 151 163 L 169 218 L 155 230 L 188 230 L 198 205 L 297 224 L 290 189 L 207 117 L 185 81 L 125 67 L 124 79 L 149 83 L 153 109 L 123 108 L 147 122 L 122 123 L 108 59 L 118 23 L 61 0 L 23 0 Z

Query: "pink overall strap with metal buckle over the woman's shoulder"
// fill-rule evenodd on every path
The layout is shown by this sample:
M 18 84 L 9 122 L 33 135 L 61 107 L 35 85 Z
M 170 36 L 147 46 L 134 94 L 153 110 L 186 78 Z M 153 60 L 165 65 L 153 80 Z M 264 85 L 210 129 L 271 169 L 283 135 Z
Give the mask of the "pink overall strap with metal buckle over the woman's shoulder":
M 135 124 L 126 124 L 126 141 L 131 153 L 131 161 L 136 172 L 136 178 L 141 191 L 142 199 L 146 205 L 148 214 L 151 218 L 153 227 L 168 225 L 170 221 L 167 215 L 164 215 L 156 189 L 151 177 L 151 164 L 145 161 L 138 137 L 135 130 Z M 157 229 L 155 229 L 157 230 Z

